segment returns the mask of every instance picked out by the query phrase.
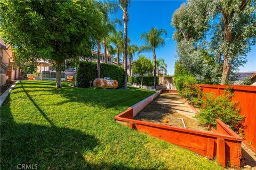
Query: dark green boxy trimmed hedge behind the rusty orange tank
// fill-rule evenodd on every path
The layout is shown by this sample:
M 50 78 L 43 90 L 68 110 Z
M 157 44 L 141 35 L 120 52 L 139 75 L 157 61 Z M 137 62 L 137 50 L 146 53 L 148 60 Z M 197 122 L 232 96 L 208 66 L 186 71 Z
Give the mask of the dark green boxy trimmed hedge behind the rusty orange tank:
M 118 87 L 124 86 L 124 69 L 114 64 L 100 64 L 100 77 L 110 77 L 118 82 Z M 76 80 L 78 87 L 90 87 L 90 81 L 97 78 L 97 62 L 80 61 L 77 66 Z M 91 84 L 92 85 L 92 84 Z

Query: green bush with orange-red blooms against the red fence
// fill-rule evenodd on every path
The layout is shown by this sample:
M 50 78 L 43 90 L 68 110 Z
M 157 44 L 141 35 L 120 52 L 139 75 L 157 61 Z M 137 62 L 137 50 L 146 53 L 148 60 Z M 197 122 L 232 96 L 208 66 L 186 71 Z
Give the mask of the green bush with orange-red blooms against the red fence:
M 216 127 L 215 119 L 220 119 L 230 126 L 233 131 L 243 136 L 244 117 L 240 115 L 240 108 L 237 102 L 232 102 L 234 95 L 230 88 L 227 88 L 222 95 L 215 97 L 214 93 L 203 93 L 202 110 L 196 115 L 199 122 Z

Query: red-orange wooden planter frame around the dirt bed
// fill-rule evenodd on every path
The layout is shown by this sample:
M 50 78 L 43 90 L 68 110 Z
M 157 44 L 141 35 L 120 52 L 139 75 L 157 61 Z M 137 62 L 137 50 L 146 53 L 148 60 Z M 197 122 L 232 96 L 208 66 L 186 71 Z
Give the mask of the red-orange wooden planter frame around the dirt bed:
M 241 166 L 241 143 L 243 139 L 219 119 L 216 119 L 217 130 L 213 129 L 211 132 L 134 120 L 133 117 L 156 98 L 159 93 L 161 93 L 161 91 L 134 104 L 114 118 L 117 122 L 129 126 L 130 128 L 177 144 L 183 148 L 206 156 L 209 159 L 217 157 L 220 165 L 223 167 L 227 165 L 234 167 Z

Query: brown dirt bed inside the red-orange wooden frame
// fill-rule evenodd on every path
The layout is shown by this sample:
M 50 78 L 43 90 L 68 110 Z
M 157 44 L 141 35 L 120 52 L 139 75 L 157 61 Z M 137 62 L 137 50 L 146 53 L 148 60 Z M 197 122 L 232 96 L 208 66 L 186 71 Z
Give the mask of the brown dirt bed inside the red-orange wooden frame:
M 206 126 L 202 126 L 194 118 L 195 112 L 188 106 L 185 99 L 176 93 L 161 93 L 148 106 L 141 110 L 133 119 L 145 122 L 164 124 L 165 118 L 169 119 L 169 125 L 207 131 Z M 182 119 L 180 119 L 182 118 Z

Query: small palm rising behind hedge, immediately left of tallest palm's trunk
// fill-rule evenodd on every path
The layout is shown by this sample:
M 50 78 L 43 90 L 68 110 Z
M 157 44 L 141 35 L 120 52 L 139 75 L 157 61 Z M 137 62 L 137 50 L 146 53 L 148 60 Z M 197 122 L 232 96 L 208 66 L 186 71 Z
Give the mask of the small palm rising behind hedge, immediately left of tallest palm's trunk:
M 111 34 L 109 36 L 109 40 L 111 43 L 113 43 L 116 46 L 116 55 L 117 55 L 117 66 L 119 66 L 120 63 L 120 47 L 124 44 L 124 35 L 123 35 L 123 31 L 119 30 L 116 31 L 114 34 Z

